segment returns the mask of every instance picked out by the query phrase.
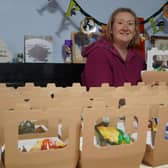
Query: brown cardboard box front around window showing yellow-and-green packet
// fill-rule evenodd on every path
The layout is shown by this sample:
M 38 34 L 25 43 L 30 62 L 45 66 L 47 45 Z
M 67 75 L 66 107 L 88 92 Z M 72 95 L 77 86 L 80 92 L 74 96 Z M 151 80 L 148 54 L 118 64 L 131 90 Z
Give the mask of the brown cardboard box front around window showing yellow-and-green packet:
M 114 145 L 111 147 L 97 148 L 93 144 L 94 124 L 102 116 L 111 118 L 126 116 L 127 129 L 132 126 L 132 117 L 138 117 L 138 139 L 129 145 Z M 81 168 L 139 168 L 146 142 L 148 110 L 145 106 L 132 106 L 132 108 L 112 109 L 94 107 L 84 109 L 83 147 L 80 155 Z M 89 129 L 88 129 L 89 128 Z

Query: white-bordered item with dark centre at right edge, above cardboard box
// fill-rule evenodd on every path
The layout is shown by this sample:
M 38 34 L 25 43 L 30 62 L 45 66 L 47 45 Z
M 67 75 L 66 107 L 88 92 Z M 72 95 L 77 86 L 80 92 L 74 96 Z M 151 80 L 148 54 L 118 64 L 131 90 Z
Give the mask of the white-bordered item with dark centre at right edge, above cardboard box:
M 168 50 L 152 48 L 147 52 L 147 71 L 168 71 Z

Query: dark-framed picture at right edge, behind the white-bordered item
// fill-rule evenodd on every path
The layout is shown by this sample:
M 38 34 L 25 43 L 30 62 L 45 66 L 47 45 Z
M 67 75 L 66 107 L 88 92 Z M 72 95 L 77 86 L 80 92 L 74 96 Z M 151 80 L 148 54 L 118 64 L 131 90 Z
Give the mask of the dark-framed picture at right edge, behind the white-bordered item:
M 168 36 L 151 36 L 151 45 L 159 50 L 168 50 Z

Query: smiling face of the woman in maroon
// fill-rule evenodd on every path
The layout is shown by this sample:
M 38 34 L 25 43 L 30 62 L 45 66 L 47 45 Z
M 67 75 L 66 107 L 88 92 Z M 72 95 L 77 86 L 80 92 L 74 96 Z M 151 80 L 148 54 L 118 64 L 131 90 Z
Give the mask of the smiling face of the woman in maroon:
M 113 35 L 113 43 L 126 45 L 135 36 L 135 17 L 129 12 L 119 12 L 112 24 L 111 33 Z

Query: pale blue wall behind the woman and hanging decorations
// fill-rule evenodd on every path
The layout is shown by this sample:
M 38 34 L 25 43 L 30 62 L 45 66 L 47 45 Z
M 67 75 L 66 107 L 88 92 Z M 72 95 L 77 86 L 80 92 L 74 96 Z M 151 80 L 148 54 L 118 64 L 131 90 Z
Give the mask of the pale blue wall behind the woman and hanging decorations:
M 117 7 L 131 7 L 138 16 L 147 18 L 167 0 L 76 0 L 80 6 L 97 20 L 106 23 L 111 11 Z M 24 52 L 24 35 L 51 35 L 54 43 L 54 61 L 62 63 L 62 44 L 78 31 L 84 15 L 77 12 L 61 27 L 69 0 L 55 0 L 55 8 L 45 8 L 47 0 L 0 0 L 0 39 L 4 40 L 13 55 Z M 38 12 L 42 9 L 41 13 Z M 145 25 L 148 26 L 149 25 Z M 151 33 L 151 30 L 149 29 Z

